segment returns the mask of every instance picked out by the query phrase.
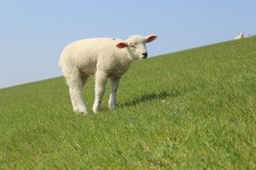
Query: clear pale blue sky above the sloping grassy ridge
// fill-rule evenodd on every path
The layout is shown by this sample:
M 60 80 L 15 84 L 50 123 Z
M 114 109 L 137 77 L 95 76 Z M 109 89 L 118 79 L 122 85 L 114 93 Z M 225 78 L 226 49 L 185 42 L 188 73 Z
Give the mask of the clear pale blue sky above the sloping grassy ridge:
M 1 0 L 0 89 L 61 75 L 59 54 L 81 38 L 156 33 L 149 55 L 256 34 L 255 0 Z

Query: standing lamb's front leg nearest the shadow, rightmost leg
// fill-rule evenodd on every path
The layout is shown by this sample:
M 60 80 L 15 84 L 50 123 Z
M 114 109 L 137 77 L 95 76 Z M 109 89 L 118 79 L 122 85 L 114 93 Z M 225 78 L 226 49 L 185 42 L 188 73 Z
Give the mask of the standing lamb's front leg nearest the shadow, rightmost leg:
M 111 86 L 111 93 L 110 93 L 110 99 L 109 99 L 110 109 L 114 109 L 116 107 L 116 94 L 119 88 L 119 81 L 120 81 L 120 78 L 110 79 L 110 86 Z

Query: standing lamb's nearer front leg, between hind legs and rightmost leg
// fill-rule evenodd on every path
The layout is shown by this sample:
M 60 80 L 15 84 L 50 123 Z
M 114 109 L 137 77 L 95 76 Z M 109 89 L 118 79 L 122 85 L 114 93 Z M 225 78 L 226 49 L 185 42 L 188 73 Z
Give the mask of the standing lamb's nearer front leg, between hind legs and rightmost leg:
M 108 77 L 103 72 L 95 73 L 95 100 L 93 104 L 93 113 L 96 114 L 101 109 L 102 97 L 105 92 L 105 86 Z

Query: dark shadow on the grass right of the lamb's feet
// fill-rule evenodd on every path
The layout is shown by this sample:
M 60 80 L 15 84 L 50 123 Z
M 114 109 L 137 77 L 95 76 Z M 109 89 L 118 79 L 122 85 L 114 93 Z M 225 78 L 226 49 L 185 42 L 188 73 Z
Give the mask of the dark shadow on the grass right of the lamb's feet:
M 127 102 L 119 104 L 120 107 L 123 106 L 136 106 L 140 103 L 144 103 L 146 101 L 152 101 L 155 99 L 164 99 L 164 98 L 170 98 L 170 97 L 178 97 L 180 96 L 180 92 L 178 90 L 172 90 L 170 91 L 160 91 L 160 92 L 152 92 L 147 94 L 142 94 L 140 96 L 136 96 L 132 100 L 129 100 Z

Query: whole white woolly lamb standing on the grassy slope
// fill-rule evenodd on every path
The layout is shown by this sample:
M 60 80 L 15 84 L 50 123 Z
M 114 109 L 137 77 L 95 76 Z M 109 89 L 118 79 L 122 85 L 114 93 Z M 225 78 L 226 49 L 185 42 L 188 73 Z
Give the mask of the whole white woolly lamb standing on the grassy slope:
M 134 35 L 126 40 L 119 38 L 87 38 L 67 45 L 59 58 L 58 65 L 66 78 L 73 111 L 87 114 L 82 89 L 89 76 L 95 75 L 95 99 L 93 113 L 101 109 L 105 85 L 110 78 L 109 107 L 116 107 L 116 93 L 121 76 L 128 71 L 129 65 L 137 59 L 147 57 L 146 43 L 157 38 Z

